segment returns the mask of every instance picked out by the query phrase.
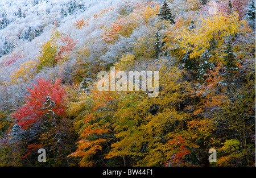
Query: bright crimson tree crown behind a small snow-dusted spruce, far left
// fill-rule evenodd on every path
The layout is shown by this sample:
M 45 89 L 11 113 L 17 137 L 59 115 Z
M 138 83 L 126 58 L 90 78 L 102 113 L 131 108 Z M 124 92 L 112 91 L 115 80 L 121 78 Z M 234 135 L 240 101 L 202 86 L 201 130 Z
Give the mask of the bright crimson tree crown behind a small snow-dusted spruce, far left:
M 32 123 L 39 121 L 43 115 L 47 114 L 48 111 L 43 109 L 46 107 L 47 97 L 50 97 L 55 103 L 51 109 L 53 113 L 57 116 L 64 117 L 65 115 L 63 103 L 66 92 L 60 85 L 61 79 L 56 79 L 54 84 L 46 78 L 36 79 L 36 82 L 37 85 L 32 84 L 34 89 L 27 88 L 30 94 L 25 97 L 26 103 L 12 115 L 22 129 L 27 129 Z

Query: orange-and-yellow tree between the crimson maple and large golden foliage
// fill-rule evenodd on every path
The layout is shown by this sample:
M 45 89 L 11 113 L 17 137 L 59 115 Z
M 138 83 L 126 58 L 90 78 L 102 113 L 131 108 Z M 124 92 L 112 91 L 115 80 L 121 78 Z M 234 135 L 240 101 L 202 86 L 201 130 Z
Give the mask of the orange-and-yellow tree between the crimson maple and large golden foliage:
M 113 92 L 81 93 L 77 102 L 71 102 L 68 114 L 76 117 L 75 129 L 80 135 L 77 150 L 68 157 L 80 158 L 80 166 L 106 165 L 104 155 L 113 142 Z

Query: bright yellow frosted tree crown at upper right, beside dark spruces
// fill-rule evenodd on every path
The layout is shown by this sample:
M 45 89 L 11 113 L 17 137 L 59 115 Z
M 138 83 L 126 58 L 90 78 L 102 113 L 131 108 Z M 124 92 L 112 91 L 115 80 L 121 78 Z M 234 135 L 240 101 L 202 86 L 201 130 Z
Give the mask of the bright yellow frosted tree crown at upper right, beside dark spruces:
M 189 58 L 198 58 L 207 49 L 211 48 L 214 53 L 212 61 L 220 61 L 222 51 L 220 47 L 225 43 L 226 37 L 238 33 L 246 34 L 250 31 L 245 20 L 239 20 L 239 15 L 234 11 L 232 14 L 217 13 L 216 15 L 201 16 L 200 23 L 193 30 L 184 27 L 179 33 L 178 40 L 181 50 L 185 55 L 189 52 Z M 168 42 L 168 40 L 167 40 Z

